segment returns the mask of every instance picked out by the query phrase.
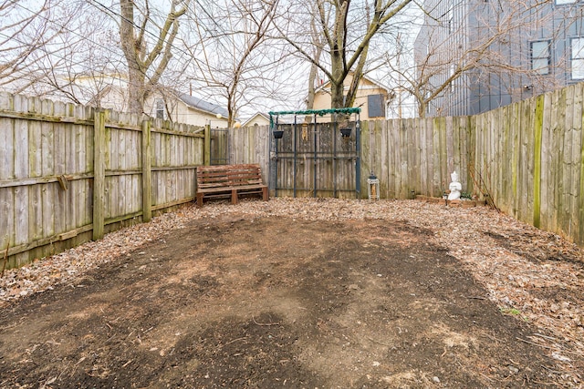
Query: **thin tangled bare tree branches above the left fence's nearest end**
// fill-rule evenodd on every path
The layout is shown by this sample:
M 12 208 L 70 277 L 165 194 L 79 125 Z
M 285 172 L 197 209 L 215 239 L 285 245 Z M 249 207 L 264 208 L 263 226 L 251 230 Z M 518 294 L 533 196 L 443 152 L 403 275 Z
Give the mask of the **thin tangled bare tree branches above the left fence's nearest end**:
M 0 85 L 26 93 L 100 107 L 113 89 L 122 95 L 126 76 L 117 25 L 87 1 L 47 0 L 2 4 L 5 41 Z M 109 107 L 120 107 L 117 98 Z

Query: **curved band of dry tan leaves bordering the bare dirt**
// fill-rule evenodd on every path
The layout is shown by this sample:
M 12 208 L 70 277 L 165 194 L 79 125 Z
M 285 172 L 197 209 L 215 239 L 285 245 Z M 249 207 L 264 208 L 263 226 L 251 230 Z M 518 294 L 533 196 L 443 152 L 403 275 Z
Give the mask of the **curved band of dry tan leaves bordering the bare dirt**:
M 108 234 L 78 248 L 45 258 L 0 279 L 0 306 L 59 283 L 75 285 L 79 275 L 111 261 L 122 261 L 141 245 L 189 221 L 225 213 L 292 220 L 406 221 L 432 230 L 436 243 L 465 264 L 503 314 L 540 328 L 530 339 L 564 366 L 565 378 L 581 384 L 575 357 L 584 355 L 584 251 L 553 233 L 486 207 L 449 208 L 419 200 L 286 199 L 249 200 L 233 206 L 214 201 L 202 209 L 189 204 L 149 223 Z M 560 372 L 558 372 L 560 373 Z

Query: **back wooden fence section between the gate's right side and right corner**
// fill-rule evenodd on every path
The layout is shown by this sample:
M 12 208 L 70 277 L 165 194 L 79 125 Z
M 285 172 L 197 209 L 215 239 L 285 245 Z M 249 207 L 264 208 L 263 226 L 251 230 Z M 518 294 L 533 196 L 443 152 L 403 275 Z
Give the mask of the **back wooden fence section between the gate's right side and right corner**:
M 416 118 L 369 121 L 361 125 L 361 187 L 380 179 L 384 199 L 412 199 L 415 195 L 442 197 L 455 170 L 468 186 L 470 118 Z

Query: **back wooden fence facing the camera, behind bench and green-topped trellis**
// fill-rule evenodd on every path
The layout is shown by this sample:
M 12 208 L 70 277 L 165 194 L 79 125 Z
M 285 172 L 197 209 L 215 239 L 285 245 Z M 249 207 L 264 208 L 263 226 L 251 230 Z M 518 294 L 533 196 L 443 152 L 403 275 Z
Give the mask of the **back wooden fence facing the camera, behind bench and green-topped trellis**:
M 358 150 L 361 198 L 367 197 L 367 179 L 371 172 L 380 179 L 382 199 L 412 199 L 416 194 L 442 197 L 443 191 L 448 189 L 450 173 L 454 169 L 459 172 L 461 182 L 466 188 L 467 182 L 473 182 L 466 168 L 469 162 L 474 163 L 471 123 L 470 117 L 362 122 L 360 150 Z M 290 124 L 284 126 L 285 137 L 291 137 L 295 133 L 292 126 Z M 318 126 L 323 125 L 319 123 Z M 308 133 L 311 133 L 313 127 L 308 126 L 308 129 Z M 301 133 L 302 124 L 298 124 L 297 138 L 301 136 Z M 267 126 L 234 129 L 230 131 L 229 136 L 231 163 L 259 163 L 262 171 L 267 172 L 270 170 L 270 165 L 273 165 L 275 159 L 280 158 L 282 154 L 281 150 L 278 150 L 279 154 L 276 154 L 274 139 L 270 138 Z M 344 143 L 354 144 L 354 138 L 355 135 L 352 134 L 350 138 L 338 139 L 338 147 L 342 148 Z M 312 137 L 308 137 L 308 141 L 311 139 Z M 267 158 L 270 142 L 272 142 L 272 154 Z M 297 140 L 297 143 L 300 142 Z M 302 148 L 298 149 L 298 154 L 301 154 L 300 151 Z M 310 187 L 313 176 L 310 172 L 306 172 L 310 163 L 312 163 L 310 159 L 297 163 L 298 187 Z M 341 188 L 349 188 L 351 185 L 354 187 L 355 172 L 353 170 L 337 169 L 336 174 L 333 175 L 334 164 L 328 163 L 328 166 L 330 171 L 323 171 L 322 177 L 318 179 L 321 180 L 323 187 L 331 189 L 329 196 L 334 193 L 332 189 L 335 188 L 335 181 Z M 277 179 L 289 183 L 294 181 L 293 175 L 293 169 L 280 169 Z M 273 176 L 266 175 L 264 179 L 268 182 L 269 179 L 273 179 Z M 303 179 L 306 182 L 303 182 Z M 271 195 L 274 195 L 275 185 L 273 182 L 269 184 L 272 189 Z M 287 186 L 290 187 L 291 184 Z M 291 190 L 280 191 L 278 195 L 282 193 L 292 196 Z M 327 196 L 326 191 L 319 193 L 319 195 Z M 297 191 L 298 197 L 312 195 L 312 191 Z M 337 193 L 337 197 L 354 198 L 354 189 L 349 194 Z

